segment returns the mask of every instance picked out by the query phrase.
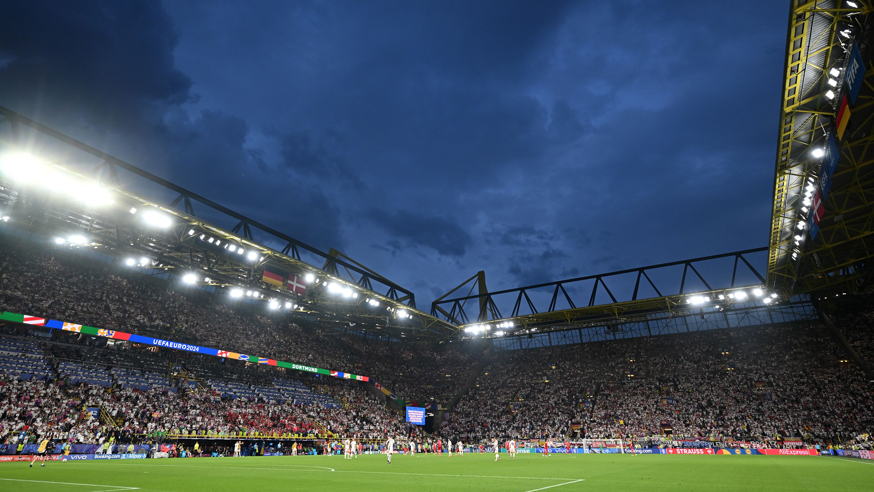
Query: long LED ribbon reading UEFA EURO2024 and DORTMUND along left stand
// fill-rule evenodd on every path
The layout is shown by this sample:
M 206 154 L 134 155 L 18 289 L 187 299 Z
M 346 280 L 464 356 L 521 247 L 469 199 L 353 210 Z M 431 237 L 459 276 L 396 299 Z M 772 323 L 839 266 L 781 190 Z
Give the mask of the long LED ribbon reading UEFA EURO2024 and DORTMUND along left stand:
M 155 347 L 173 348 L 176 350 L 185 350 L 187 352 L 194 352 L 196 354 L 214 355 L 216 357 L 224 357 L 226 359 L 237 359 L 239 361 L 267 364 L 270 366 L 277 366 L 277 367 L 287 368 L 287 369 L 302 370 L 302 371 L 306 371 L 306 372 L 323 374 L 326 376 L 341 377 L 343 379 L 354 379 L 357 381 L 370 382 L 370 377 L 358 376 L 356 374 L 350 374 L 348 372 L 339 372 L 336 370 L 331 371 L 328 369 L 319 369 L 319 368 L 314 368 L 312 366 L 307 366 L 307 365 L 303 365 L 303 364 L 295 364 L 293 362 L 282 362 L 282 361 L 276 361 L 274 359 L 267 359 L 266 357 L 259 357 L 257 355 L 246 355 L 246 354 L 240 354 L 237 352 L 231 352 L 229 350 L 218 350 L 218 348 L 200 347 L 198 345 L 191 345 L 188 343 L 180 343 L 177 341 L 162 340 L 160 338 L 154 338 L 154 337 L 150 337 L 150 336 L 142 336 L 142 335 L 138 335 L 138 334 L 128 334 L 128 333 L 124 333 L 124 332 L 120 332 L 120 331 L 116 331 L 116 330 L 106 330 L 103 328 L 87 327 L 85 325 L 77 325 L 75 323 L 67 323 L 66 321 L 38 318 L 37 316 L 29 316 L 26 314 L 10 313 L 7 311 L 7 312 L 3 312 L 3 314 L 0 314 L 0 320 L 14 321 L 16 323 L 24 323 L 24 324 L 28 324 L 28 325 L 35 325 L 38 327 L 46 327 L 46 328 L 51 328 L 51 329 L 64 330 L 64 331 L 69 331 L 69 332 L 78 333 L 78 334 L 93 334 L 96 336 L 112 338 L 114 340 L 133 341 L 135 343 L 143 343 L 145 345 L 152 345 Z

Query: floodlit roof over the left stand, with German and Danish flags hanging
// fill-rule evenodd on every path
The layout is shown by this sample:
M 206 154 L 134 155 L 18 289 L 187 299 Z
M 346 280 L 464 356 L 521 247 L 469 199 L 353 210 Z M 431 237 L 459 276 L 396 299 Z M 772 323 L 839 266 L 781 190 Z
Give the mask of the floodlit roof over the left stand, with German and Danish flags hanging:
M 317 250 L 10 109 L 0 115 L 10 128 L 10 138 L 0 139 L 7 179 L 0 200 L 11 207 L 3 212 L 13 226 L 323 327 L 409 341 L 458 329 L 419 311 L 413 292 L 339 251 Z M 36 132 L 25 139 L 24 127 Z M 50 156 L 58 158 L 46 162 Z

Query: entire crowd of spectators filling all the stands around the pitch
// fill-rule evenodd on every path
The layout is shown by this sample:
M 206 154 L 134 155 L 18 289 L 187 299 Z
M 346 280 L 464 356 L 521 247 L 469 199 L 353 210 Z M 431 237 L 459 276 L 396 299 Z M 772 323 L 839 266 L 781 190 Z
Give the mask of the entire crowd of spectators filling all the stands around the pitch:
M 454 440 L 643 438 L 663 432 L 677 439 L 822 440 L 856 439 L 874 429 L 871 385 L 815 323 L 496 350 L 477 375 L 486 354 L 482 342 L 424 348 L 329 335 L 284 314 L 265 315 L 133 271 L 95 268 L 66 253 L 6 242 L 0 243 L 0 263 L 5 311 L 133 333 L 163 330 L 174 341 L 362 374 L 420 404 L 447 403 L 475 377 L 438 430 Z M 867 312 L 836 317 L 836 326 L 869 361 L 872 318 Z M 201 369 L 213 370 L 206 365 Z M 66 439 L 100 439 L 100 422 L 80 409 L 86 400 L 100 402 L 123 421 L 118 432 L 132 434 L 417 434 L 418 427 L 406 425 L 399 411 L 360 383 L 324 379 L 330 381 L 321 381 L 319 389 L 342 405 L 71 386 L 3 374 L 0 435 L 35 425 L 66 433 Z

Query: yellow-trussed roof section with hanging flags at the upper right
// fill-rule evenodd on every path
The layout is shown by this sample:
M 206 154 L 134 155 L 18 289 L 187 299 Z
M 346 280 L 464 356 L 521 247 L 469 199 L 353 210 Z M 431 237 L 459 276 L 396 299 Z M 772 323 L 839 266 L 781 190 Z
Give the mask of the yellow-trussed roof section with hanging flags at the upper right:
M 790 4 L 766 285 L 817 298 L 869 290 L 871 4 Z

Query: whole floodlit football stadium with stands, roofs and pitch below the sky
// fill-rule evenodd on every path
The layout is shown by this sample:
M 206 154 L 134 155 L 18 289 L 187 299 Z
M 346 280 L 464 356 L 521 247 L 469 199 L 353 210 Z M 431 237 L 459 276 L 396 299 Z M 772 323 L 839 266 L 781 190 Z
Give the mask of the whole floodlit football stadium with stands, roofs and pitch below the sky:
M 874 5 L 787 19 L 767 242 L 431 306 L 0 107 L 0 488 L 871 491 Z

